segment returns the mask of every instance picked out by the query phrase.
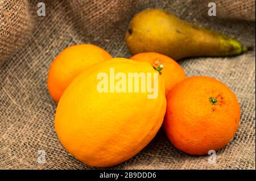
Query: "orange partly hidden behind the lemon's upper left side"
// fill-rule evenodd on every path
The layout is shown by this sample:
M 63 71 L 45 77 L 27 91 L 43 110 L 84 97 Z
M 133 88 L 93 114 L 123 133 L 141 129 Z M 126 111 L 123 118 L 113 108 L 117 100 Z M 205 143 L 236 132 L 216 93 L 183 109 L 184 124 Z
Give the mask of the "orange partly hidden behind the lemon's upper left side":
M 89 66 L 112 58 L 104 49 L 91 44 L 65 48 L 49 68 L 47 86 L 49 94 L 58 102 L 69 83 Z

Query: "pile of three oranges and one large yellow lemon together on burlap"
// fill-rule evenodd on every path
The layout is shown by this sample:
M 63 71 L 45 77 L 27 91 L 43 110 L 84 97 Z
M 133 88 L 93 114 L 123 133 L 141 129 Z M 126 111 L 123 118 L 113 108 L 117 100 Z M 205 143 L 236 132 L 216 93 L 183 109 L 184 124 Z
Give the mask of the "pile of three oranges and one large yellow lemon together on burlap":
M 73 45 L 52 62 L 47 85 L 57 102 L 57 137 L 90 166 L 130 159 L 162 124 L 177 149 L 207 154 L 224 148 L 240 122 L 228 87 L 210 77 L 186 78 L 176 61 L 154 52 L 112 58 L 95 45 Z

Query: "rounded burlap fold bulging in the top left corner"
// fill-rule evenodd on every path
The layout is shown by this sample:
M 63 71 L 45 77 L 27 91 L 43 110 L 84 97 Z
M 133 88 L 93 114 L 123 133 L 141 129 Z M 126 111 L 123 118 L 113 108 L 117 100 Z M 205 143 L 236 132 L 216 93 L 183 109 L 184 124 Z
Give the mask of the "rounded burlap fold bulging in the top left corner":
M 0 65 L 24 45 L 31 28 L 27 1 L 0 1 Z

